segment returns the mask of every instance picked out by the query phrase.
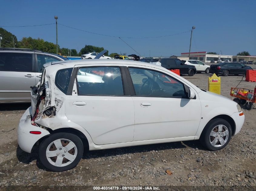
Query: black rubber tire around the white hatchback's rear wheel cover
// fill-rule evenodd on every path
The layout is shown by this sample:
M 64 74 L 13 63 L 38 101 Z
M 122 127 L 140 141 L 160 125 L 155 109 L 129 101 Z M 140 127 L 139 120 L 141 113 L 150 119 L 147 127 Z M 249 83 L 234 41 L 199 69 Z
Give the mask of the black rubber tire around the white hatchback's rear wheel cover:
M 75 146 L 74 148 L 76 147 L 77 151 L 76 151 L 76 157 L 74 159 L 74 161 L 70 161 L 71 163 L 68 164 L 67 166 L 63 166 L 63 167 L 57 167 L 53 164 L 51 164 L 47 157 L 46 157 L 46 151 L 47 151 L 47 148 L 48 146 L 50 146 L 50 144 L 52 144 L 52 142 L 54 142 L 55 140 L 58 140 L 58 139 L 68 139 L 70 141 L 72 141 Z M 62 142 L 62 141 L 61 141 Z M 63 143 L 62 143 L 63 144 Z M 69 144 L 69 143 L 68 143 Z M 52 145 L 53 146 L 53 145 Z M 52 146 L 50 146 L 50 149 L 52 148 Z M 55 146 L 55 145 L 54 145 Z M 66 145 L 67 146 L 67 145 Z M 56 148 L 56 147 L 55 147 Z M 74 149 L 72 148 L 72 149 Z M 71 149 L 71 150 L 72 150 Z M 58 150 L 58 148 L 56 149 L 56 151 Z M 62 149 L 62 151 L 64 151 L 64 149 Z M 66 150 L 65 150 L 66 151 Z M 75 150 L 74 150 L 75 151 Z M 61 152 L 61 151 L 60 151 Z M 67 151 L 66 151 L 67 152 Z M 69 152 L 69 151 L 68 151 Z M 48 138 L 46 138 L 45 140 L 43 140 L 43 142 L 40 144 L 39 146 L 39 151 L 38 151 L 38 155 L 39 155 L 39 159 L 40 161 L 42 162 L 42 164 L 49 170 L 52 170 L 52 171 L 55 171 L 55 172 L 61 172 L 61 171 L 66 171 L 66 170 L 70 170 L 72 168 L 74 168 L 78 162 L 81 160 L 82 158 L 82 155 L 83 155 L 83 152 L 84 152 L 84 147 L 83 147 L 83 143 L 81 141 L 81 139 L 74 135 L 74 134 L 71 134 L 71 133 L 64 133 L 64 132 L 61 132 L 61 133 L 55 133 L 55 134 L 52 134 L 50 135 Z M 59 153 L 59 154 L 65 154 L 65 153 Z M 71 154 L 71 153 L 70 153 Z M 74 153 L 75 154 L 75 153 Z M 57 156 L 56 156 L 56 159 L 57 159 Z M 56 160 L 55 159 L 55 160 Z M 49 158 L 49 160 L 52 160 L 52 162 L 54 163 L 54 160 Z M 64 160 L 67 160 L 67 159 L 62 159 L 62 163 Z M 68 161 L 68 160 L 67 160 Z M 69 161 L 68 161 L 69 162 Z

